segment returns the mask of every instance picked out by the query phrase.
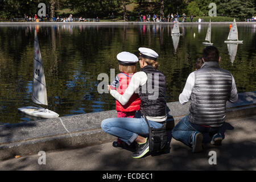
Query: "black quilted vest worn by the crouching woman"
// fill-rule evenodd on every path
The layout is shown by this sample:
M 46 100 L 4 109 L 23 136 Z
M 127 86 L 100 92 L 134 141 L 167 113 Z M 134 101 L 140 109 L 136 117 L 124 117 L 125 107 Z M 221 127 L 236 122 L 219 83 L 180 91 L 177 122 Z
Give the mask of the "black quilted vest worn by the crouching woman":
M 141 71 L 147 74 L 146 84 L 139 86 L 141 110 L 150 117 L 166 115 L 166 77 L 151 65 Z

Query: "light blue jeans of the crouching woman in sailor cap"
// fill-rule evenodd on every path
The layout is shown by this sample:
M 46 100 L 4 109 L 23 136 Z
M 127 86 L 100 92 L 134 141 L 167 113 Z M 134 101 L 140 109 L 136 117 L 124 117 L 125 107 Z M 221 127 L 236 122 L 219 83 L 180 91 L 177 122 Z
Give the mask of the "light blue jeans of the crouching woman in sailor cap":
M 150 127 L 160 128 L 162 123 L 148 120 Z M 131 144 L 140 135 L 141 137 L 148 137 L 147 122 L 143 117 L 141 118 L 109 118 L 101 122 L 103 131 L 110 135 L 114 135 L 123 140 L 127 144 Z

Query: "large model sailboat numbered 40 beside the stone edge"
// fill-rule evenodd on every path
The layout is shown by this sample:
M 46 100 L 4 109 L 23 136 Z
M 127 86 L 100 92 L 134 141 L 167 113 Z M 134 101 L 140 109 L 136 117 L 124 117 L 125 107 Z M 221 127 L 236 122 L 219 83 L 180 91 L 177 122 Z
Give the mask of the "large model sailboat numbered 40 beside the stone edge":
M 33 69 L 32 101 L 36 104 L 48 105 L 46 79 L 44 77 L 43 61 L 40 52 L 38 35 L 35 30 L 34 39 L 34 69 Z M 59 114 L 43 107 L 26 106 L 18 108 L 22 113 L 41 118 L 56 118 Z

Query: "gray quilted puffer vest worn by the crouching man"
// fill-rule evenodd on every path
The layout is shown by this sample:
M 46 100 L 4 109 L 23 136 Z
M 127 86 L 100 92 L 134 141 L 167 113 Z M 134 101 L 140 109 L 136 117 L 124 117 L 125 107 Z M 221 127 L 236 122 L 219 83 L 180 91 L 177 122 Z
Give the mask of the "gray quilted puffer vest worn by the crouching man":
M 226 120 L 226 101 L 232 89 L 232 75 L 217 62 L 205 62 L 195 73 L 188 119 L 196 125 L 220 127 Z

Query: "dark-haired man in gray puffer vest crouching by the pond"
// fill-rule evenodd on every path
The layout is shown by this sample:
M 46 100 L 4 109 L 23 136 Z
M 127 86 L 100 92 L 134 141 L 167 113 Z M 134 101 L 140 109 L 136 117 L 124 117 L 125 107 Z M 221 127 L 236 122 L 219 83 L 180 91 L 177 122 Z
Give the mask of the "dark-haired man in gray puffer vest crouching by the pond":
M 179 96 L 181 105 L 191 100 L 190 113 L 177 123 L 172 137 L 192 147 L 192 152 L 203 150 L 202 133 L 209 133 L 211 144 L 221 145 L 220 129 L 226 120 L 226 101 L 238 99 L 234 77 L 219 67 L 220 60 L 216 47 L 204 48 L 204 64 L 188 76 Z

